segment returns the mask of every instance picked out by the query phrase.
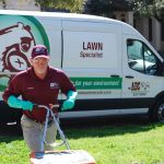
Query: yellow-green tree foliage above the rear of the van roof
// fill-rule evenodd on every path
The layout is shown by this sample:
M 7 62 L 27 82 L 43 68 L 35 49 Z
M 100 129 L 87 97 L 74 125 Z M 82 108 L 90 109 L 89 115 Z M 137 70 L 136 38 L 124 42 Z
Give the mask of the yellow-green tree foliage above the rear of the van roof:
M 35 0 L 42 8 L 67 9 L 70 12 L 82 12 L 85 0 Z

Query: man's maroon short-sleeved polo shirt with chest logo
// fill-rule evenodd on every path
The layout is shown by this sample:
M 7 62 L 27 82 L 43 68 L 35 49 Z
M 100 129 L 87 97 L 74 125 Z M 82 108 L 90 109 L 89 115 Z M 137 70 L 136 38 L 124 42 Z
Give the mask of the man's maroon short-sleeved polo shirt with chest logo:
M 70 90 L 75 91 L 75 87 L 63 71 L 48 67 L 48 73 L 42 80 L 35 75 L 34 69 L 30 68 L 11 80 L 2 96 L 7 102 L 10 95 L 16 97 L 21 95 L 24 101 L 48 106 L 58 103 L 59 91 L 67 94 Z M 23 110 L 23 113 L 28 118 L 45 121 L 46 110 L 44 108 L 34 107 L 32 112 Z

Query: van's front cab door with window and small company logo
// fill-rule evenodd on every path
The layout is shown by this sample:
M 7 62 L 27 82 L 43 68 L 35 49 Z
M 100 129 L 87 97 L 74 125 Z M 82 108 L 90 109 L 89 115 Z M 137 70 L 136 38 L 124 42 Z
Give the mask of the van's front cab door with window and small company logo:
M 134 36 L 124 36 L 121 114 L 147 113 L 163 87 L 162 63 L 153 50 Z

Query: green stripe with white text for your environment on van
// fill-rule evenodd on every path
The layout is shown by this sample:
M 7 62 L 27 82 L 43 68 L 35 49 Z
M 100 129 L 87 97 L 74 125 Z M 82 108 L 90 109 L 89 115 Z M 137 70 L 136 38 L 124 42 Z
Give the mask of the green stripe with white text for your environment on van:
M 121 78 L 71 78 L 77 90 L 120 90 Z

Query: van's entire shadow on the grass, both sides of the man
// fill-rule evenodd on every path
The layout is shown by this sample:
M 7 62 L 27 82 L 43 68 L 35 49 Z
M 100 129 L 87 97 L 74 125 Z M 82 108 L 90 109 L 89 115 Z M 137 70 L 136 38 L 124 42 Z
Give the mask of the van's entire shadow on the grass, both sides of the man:
M 106 117 L 97 119 L 61 120 L 60 127 L 69 139 L 121 136 L 144 132 L 163 126 L 148 117 Z M 23 140 L 20 125 L 0 125 L 0 142 Z

